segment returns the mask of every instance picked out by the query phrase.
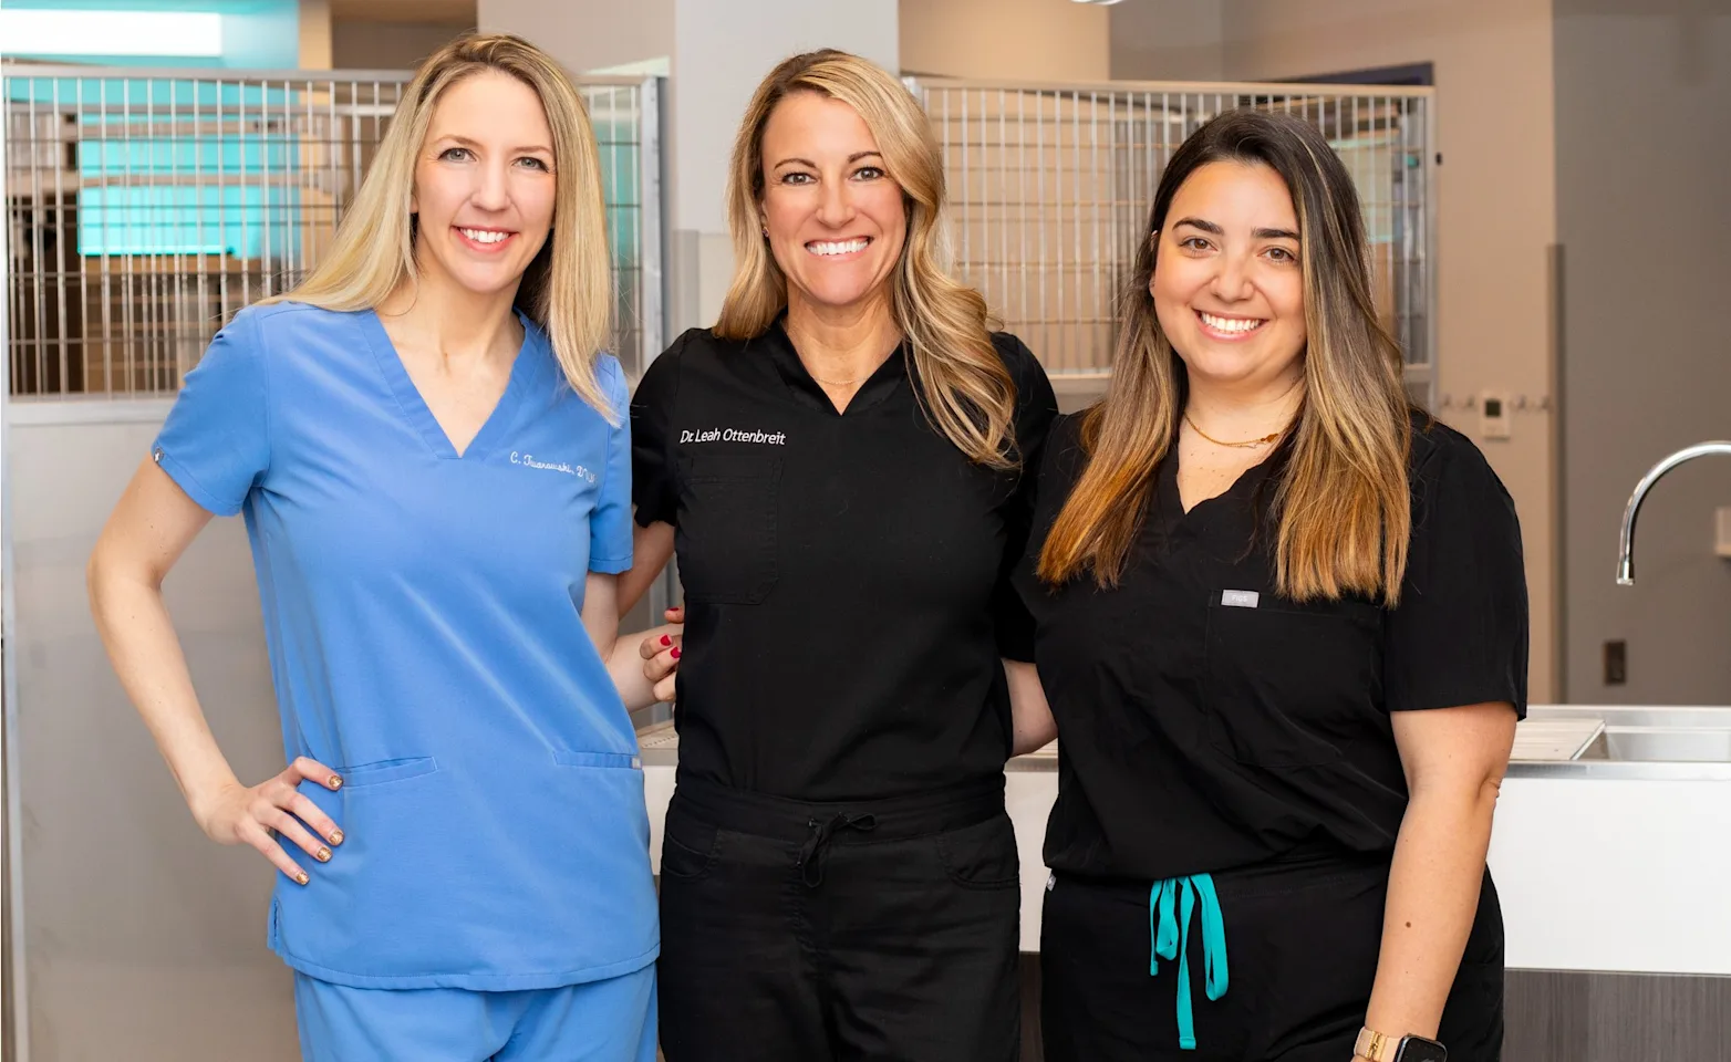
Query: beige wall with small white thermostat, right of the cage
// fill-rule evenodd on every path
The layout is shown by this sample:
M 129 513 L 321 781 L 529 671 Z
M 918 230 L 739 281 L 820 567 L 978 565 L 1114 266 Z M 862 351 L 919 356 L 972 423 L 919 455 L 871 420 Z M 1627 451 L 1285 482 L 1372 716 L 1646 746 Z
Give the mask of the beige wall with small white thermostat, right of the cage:
M 1553 420 L 1477 438 L 1459 405 L 1551 394 L 1549 247 L 1556 242 L 1551 0 L 1226 0 L 1224 74 L 1295 78 L 1433 62 L 1438 168 L 1438 394 L 1520 509 L 1532 595 L 1532 697 L 1556 681 Z

